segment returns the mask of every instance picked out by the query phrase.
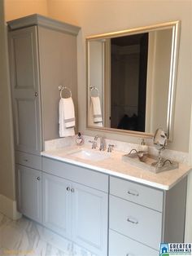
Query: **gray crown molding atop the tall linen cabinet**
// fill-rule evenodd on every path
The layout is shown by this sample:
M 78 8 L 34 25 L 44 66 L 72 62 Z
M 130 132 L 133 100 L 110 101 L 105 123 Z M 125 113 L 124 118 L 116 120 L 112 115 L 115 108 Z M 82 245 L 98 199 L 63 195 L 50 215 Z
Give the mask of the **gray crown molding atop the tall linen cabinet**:
M 49 29 L 59 30 L 63 33 L 70 33 L 72 35 L 77 35 L 81 29 L 75 25 L 54 20 L 39 14 L 28 15 L 16 20 L 10 20 L 7 21 L 7 24 L 9 30 L 22 29 L 33 25 L 38 25 Z

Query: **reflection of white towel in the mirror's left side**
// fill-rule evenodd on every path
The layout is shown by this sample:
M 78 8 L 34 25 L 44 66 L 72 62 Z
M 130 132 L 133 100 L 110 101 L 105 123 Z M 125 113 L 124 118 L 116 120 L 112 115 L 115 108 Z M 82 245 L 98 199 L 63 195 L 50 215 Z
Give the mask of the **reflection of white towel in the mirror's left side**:
M 94 126 L 103 126 L 102 110 L 99 97 L 90 97 L 90 115 Z

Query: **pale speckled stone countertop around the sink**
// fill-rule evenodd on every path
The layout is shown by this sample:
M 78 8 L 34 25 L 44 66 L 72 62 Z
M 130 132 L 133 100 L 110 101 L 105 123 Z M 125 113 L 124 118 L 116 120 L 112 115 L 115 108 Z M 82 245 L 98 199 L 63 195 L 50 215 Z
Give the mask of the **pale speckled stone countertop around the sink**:
M 180 163 L 178 169 L 154 174 L 149 170 L 143 170 L 142 168 L 133 166 L 128 161 L 123 161 L 122 156 L 124 155 L 124 152 L 116 150 L 113 152 L 104 152 L 105 154 L 108 154 L 108 156 L 106 159 L 100 161 L 85 160 L 71 155 L 72 152 L 76 152 L 80 149 L 92 150 L 86 146 L 71 146 L 55 150 L 47 150 L 41 152 L 41 156 L 89 168 L 104 174 L 110 174 L 163 190 L 169 190 L 190 172 L 189 166 Z M 99 152 L 98 149 L 93 149 L 93 151 L 103 154 L 103 152 Z

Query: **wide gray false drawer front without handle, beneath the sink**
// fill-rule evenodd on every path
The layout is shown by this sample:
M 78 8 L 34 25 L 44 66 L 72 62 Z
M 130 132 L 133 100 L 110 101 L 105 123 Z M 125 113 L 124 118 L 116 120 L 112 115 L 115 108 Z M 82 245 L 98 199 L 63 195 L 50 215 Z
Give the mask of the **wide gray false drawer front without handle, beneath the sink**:
M 42 157 L 42 170 L 46 173 L 108 192 L 108 175 L 79 166 L 73 166 L 63 161 Z

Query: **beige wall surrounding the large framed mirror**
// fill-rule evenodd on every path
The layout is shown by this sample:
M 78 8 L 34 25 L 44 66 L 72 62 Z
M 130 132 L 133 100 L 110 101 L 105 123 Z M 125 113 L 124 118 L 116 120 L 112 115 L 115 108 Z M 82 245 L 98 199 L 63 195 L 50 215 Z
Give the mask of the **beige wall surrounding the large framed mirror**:
M 131 1 L 97 0 L 64 1 L 47 0 L 48 12 L 53 18 L 81 26 L 78 36 L 78 86 L 79 86 L 79 130 L 87 135 L 97 131 L 85 129 L 85 37 L 170 20 L 181 20 L 181 42 L 177 76 L 176 114 L 174 140 L 169 148 L 188 152 L 190 133 L 191 102 L 191 1 Z M 137 143 L 139 140 L 128 135 L 104 134 L 107 138 Z

